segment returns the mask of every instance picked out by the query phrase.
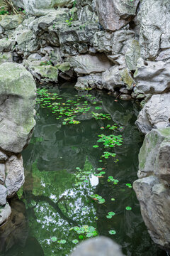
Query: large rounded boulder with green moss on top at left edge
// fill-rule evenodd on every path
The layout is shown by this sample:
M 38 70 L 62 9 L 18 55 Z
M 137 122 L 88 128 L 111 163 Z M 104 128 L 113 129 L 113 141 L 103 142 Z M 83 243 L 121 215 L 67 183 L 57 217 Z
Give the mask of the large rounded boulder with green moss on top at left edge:
M 28 144 L 35 126 L 35 90 L 33 76 L 23 65 L 0 65 L 0 147 L 4 151 L 18 153 Z

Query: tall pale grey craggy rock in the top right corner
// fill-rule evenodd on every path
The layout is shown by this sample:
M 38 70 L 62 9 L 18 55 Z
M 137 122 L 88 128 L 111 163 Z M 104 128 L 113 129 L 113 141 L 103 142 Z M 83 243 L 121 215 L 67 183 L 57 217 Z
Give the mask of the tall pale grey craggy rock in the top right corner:
M 137 18 L 140 22 L 142 58 L 154 60 L 160 49 L 170 48 L 169 1 L 142 1 Z

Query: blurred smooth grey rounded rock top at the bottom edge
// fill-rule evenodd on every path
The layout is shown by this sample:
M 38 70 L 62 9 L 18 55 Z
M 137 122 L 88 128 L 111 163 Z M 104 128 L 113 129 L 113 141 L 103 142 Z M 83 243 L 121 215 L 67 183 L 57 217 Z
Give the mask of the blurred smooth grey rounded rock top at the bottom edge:
M 123 256 L 120 246 L 110 238 L 98 237 L 81 242 L 71 256 Z

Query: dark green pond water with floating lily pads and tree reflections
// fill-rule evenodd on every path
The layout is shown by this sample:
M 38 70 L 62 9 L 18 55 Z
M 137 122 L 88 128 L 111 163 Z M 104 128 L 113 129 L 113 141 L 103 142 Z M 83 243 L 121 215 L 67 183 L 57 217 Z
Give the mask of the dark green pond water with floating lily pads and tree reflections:
M 166 255 L 149 238 L 131 186 L 143 140 L 135 127 L 138 106 L 106 92 L 77 92 L 69 83 L 40 94 L 23 151 L 26 182 L 0 229 L 0 254 L 64 256 L 77 242 L 105 235 L 127 256 Z

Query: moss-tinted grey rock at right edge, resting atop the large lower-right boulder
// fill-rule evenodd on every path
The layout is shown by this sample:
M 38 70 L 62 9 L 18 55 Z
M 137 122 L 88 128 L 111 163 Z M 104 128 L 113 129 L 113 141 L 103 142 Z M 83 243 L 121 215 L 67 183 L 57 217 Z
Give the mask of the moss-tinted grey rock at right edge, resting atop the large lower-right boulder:
M 138 177 L 150 174 L 170 184 L 170 127 L 153 129 L 145 136 L 139 154 Z

